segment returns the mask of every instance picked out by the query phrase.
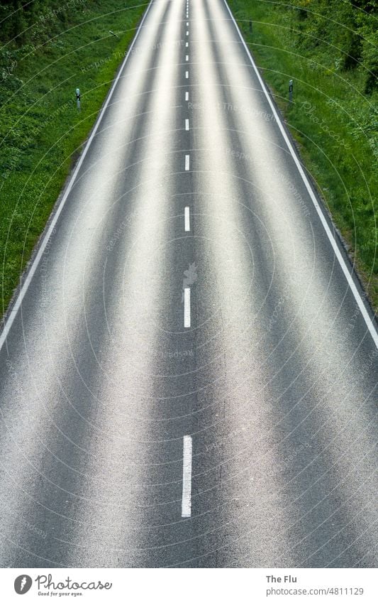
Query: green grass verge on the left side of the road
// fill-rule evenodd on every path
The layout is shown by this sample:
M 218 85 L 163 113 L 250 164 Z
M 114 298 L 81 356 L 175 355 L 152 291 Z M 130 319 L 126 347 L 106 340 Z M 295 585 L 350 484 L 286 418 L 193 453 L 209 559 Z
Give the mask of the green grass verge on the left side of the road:
M 0 316 L 147 6 L 77 0 L 64 21 L 46 13 L 28 44 L 1 48 Z

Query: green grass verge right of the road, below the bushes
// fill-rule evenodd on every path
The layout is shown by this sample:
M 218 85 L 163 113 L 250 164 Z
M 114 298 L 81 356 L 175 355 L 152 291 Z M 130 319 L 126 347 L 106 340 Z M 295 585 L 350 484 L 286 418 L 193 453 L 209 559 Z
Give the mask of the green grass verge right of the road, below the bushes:
M 366 71 L 345 70 L 333 46 L 304 33 L 289 4 L 228 4 L 377 310 L 378 94 L 364 94 Z

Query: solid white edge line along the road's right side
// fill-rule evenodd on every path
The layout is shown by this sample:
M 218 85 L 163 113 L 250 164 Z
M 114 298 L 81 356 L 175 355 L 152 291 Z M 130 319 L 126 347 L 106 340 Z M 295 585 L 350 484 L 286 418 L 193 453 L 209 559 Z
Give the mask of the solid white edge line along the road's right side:
M 227 0 L 223 0 L 223 1 L 224 1 L 224 4 L 226 5 L 226 9 L 230 13 L 230 17 L 233 20 L 233 23 L 235 25 L 236 31 L 238 32 L 238 36 L 239 36 L 240 40 L 243 43 L 243 46 L 244 46 L 244 48 L 245 48 L 245 50 L 246 50 L 246 52 L 248 54 L 250 62 L 252 63 L 252 67 L 255 70 L 255 73 L 257 75 L 257 79 L 260 82 L 262 90 L 265 93 L 265 96 L 267 97 L 267 101 L 269 102 L 270 108 L 272 109 L 273 115 L 274 115 L 274 117 L 275 117 L 275 119 L 277 121 L 277 124 L 278 124 L 279 129 L 281 131 L 281 134 L 282 134 L 282 136 L 284 138 L 284 141 L 287 143 L 287 148 L 289 148 L 290 154 L 291 154 L 292 158 L 294 159 L 294 163 L 296 164 L 296 167 L 298 168 L 298 171 L 299 171 L 299 173 L 301 175 L 302 180 L 304 181 L 306 189 L 308 190 L 308 194 L 310 195 L 311 200 L 313 202 L 313 205 L 315 206 L 316 212 L 318 213 L 318 216 L 321 219 L 321 223 L 323 224 L 323 228 L 326 231 L 327 237 L 328 237 L 328 239 L 330 241 L 330 244 L 331 244 L 331 246 L 333 248 L 335 256 L 337 257 L 338 262 L 340 264 L 340 267 L 341 267 L 341 269 L 342 269 L 342 271 L 343 271 L 343 273 L 345 275 L 345 278 L 348 281 L 348 285 L 350 286 L 350 289 L 352 290 L 352 294 L 353 294 L 353 296 L 354 296 L 354 298 L 356 300 L 356 303 L 358 305 L 358 308 L 360 309 L 360 312 L 361 312 L 361 314 L 362 314 L 362 316 L 363 316 L 363 318 L 364 318 L 364 320 L 366 322 L 366 325 L 367 325 L 367 328 L 368 328 L 368 330 L 370 332 L 370 335 L 372 335 L 372 339 L 374 341 L 374 344 L 378 348 L 378 333 L 377 333 L 377 329 L 375 328 L 375 325 L 374 325 L 372 319 L 369 317 L 369 313 L 367 312 L 367 309 L 365 308 L 365 304 L 362 301 L 361 295 L 358 292 L 357 287 L 355 286 L 355 281 L 353 281 L 353 277 L 350 274 L 350 271 L 348 270 L 348 266 L 345 264 L 345 260 L 343 258 L 343 255 L 341 254 L 341 251 L 340 251 L 340 249 L 338 247 L 338 243 L 335 240 L 335 237 L 333 236 L 333 234 L 332 234 L 332 232 L 330 230 L 330 227 L 328 226 L 328 222 L 326 220 L 325 215 L 323 214 L 323 211 L 322 211 L 320 205 L 318 204 L 318 200 L 316 199 L 316 195 L 314 194 L 314 192 L 313 192 L 313 190 L 311 188 L 311 185 L 308 182 L 308 178 L 307 178 L 306 174 L 304 173 L 304 169 L 302 168 L 301 163 L 300 163 L 298 157 L 296 156 L 296 153 L 294 152 L 294 148 L 291 145 L 291 142 L 289 141 L 287 133 L 286 133 L 286 131 L 284 129 L 284 126 L 282 124 L 282 121 L 281 121 L 279 115 L 277 114 L 277 111 L 276 111 L 276 109 L 274 107 L 272 99 L 270 99 L 270 97 L 269 97 L 269 94 L 267 92 L 267 88 L 265 87 L 265 83 L 263 82 L 262 77 L 261 77 L 259 71 L 257 70 L 255 61 L 252 58 L 250 50 L 249 50 L 247 44 L 245 43 L 245 40 L 244 40 L 243 36 L 240 33 L 240 29 L 238 28 L 238 23 L 236 23 L 235 18 L 233 16 L 233 13 L 230 11 L 230 7 L 227 4 Z

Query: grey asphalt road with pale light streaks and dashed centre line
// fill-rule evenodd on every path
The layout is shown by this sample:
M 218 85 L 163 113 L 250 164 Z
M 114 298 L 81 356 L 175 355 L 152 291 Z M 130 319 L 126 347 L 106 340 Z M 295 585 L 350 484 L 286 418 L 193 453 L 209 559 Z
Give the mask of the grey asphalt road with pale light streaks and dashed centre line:
M 377 565 L 377 332 L 262 86 L 150 5 L 0 340 L 1 567 Z

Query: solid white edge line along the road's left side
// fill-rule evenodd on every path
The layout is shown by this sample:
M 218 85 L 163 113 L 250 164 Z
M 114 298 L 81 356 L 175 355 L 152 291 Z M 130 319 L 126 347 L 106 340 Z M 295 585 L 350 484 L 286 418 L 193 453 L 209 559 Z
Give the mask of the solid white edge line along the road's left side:
M 147 10 L 145 11 L 144 15 L 143 15 L 143 19 L 142 21 L 140 21 L 140 25 L 138 27 L 137 32 L 135 33 L 134 39 L 132 41 L 132 43 L 130 44 L 130 47 L 128 48 L 128 52 L 126 54 L 125 59 L 123 60 L 123 63 L 121 65 L 120 70 L 118 70 L 118 74 L 116 76 L 116 79 L 113 82 L 113 86 L 111 87 L 108 97 L 106 98 L 104 107 L 102 107 L 101 112 L 96 120 L 96 124 L 94 124 L 94 129 L 91 132 L 91 135 L 89 136 L 89 139 L 87 141 L 87 144 L 85 145 L 84 151 L 82 153 L 82 156 L 79 158 L 79 161 L 77 163 L 76 168 L 74 169 L 74 173 L 71 176 L 70 182 L 67 185 L 67 189 L 65 190 L 64 195 L 62 196 L 62 200 L 60 201 L 60 204 L 57 206 L 57 210 L 55 212 L 55 214 L 53 215 L 51 222 L 50 222 L 50 226 L 48 227 L 47 231 L 45 232 L 45 234 L 43 234 L 43 239 L 40 243 L 40 247 L 38 249 L 38 252 L 33 260 L 33 263 L 31 264 L 28 273 L 26 274 L 26 278 L 25 281 L 23 282 L 23 286 L 21 287 L 20 293 L 18 293 L 18 296 L 16 298 L 16 301 L 13 305 L 13 308 L 11 309 L 11 312 L 9 313 L 9 316 L 7 317 L 6 321 L 4 322 L 4 327 L 3 330 L 0 334 L 0 350 L 2 349 L 4 343 L 6 342 L 6 337 L 8 337 L 9 331 L 11 330 L 11 326 L 13 325 L 13 321 L 16 318 L 16 315 L 18 313 L 19 308 L 21 307 L 22 304 L 22 300 L 26 295 L 26 292 L 29 288 L 29 285 L 33 279 L 34 273 L 38 267 L 38 264 L 40 263 L 40 259 L 42 258 L 46 246 L 48 244 L 48 241 L 50 240 L 51 235 L 53 234 L 54 230 L 55 230 L 55 226 L 57 224 L 57 220 L 60 217 L 60 214 L 62 213 L 62 209 L 65 206 L 65 202 L 67 201 L 67 197 L 68 195 L 70 195 L 70 192 L 72 190 L 72 186 L 74 185 L 74 181 L 76 180 L 77 174 L 79 173 L 79 169 L 82 167 L 82 163 L 84 161 L 85 156 L 88 153 L 88 149 L 91 146 L 91 141 L 93 141 L 94 136 L 96 134 L 96 131 L 99 129 L 99 125 L 101 124 L 101 119 L 104 116 L 104 113 L 106 112 L 106 109 L 109 105 L 109 102 L 111 100 L 111 97 L 113 96 L 113 92 L 114 89 L 116 88 L 116 85 L 118 84 L 118 80 L 121 77 L 121 73 L 123 72 L 123 69 L 126 65 L 126 62 L 130 56 L 131 50 L 133 50 L 133 46 L 135 44 L 136 39 L 138 38 L 138 35 L 140 33 L 140 30 L 143 27 L 143 23 L 145 22 L 145 18 L 148 15 L 148 11 L 150 10 L 151 6 L 153 4 L 153 0 L 150 1 L 150 4 L 147 7 Z

